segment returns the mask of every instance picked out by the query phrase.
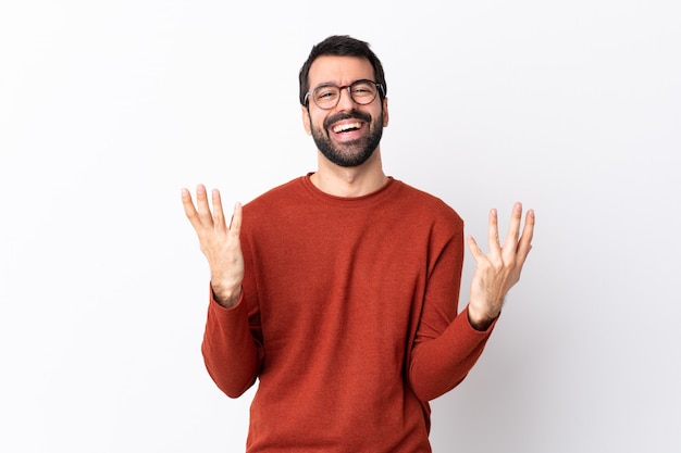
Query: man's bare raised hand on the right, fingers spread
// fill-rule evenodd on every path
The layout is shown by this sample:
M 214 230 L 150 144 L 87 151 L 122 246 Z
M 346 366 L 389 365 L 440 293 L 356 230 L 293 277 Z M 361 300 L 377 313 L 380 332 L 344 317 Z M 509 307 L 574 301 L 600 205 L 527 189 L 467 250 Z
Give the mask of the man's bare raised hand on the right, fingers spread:
M 534 232 L 534 211 L 528 211 L 525 224 L 520 235 L 522 204 L 513 205 L 511 222 L 504 246 L 499 243 L 496 210 L 490 211 L 487 241 L 490 253 L 485 255 L 475 239 L 468 237 L 468 247 L 475 259 L 475 272 L 471 282 L 468 316 L 473 327 L 485 330 L 498 316 L 504 298 L 520 279 L 520 272 L 532 249 Z

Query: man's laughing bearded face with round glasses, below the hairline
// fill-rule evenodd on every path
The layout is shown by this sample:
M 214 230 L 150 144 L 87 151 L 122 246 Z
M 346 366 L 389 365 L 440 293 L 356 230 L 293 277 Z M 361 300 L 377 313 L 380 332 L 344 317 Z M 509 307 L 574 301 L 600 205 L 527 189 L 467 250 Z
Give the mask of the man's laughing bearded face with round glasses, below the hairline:
M 314 60 L 308 79 L 310 90 L 322 84 L 343 87 L 361 79 L 375 80 L 369 60 L 332 55 Z M 310 98 L 308 106 L 302 108 L 302 124 L 317 148 L 327 160 L 345 167 L 359 166 L 371 158 L 387 122 L 386 99 L 381 102 L 376 96 L 371 103 L 360 105 L 347 89 L 340 91 L 338 104 L 331 110 L 320 109 Z

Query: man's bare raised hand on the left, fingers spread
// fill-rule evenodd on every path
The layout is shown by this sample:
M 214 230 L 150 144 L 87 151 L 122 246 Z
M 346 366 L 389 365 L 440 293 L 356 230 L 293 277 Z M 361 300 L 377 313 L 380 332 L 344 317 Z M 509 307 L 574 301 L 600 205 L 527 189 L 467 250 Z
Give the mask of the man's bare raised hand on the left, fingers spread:
M 196 207 L 189 190 L 185 188 L 182 189 L 182 204 L 199 237 L 201 252 L 208 259 L 214 299 L 221 305 L 231 307 L 239 300 L 244 280 L 244 255 L 239 240 L 242 205 L 236 203 L 232 221 L 227 225 L 220 191 L 213 189 L 211 196 L 212 213 L 203 185 L 198 185 L 196 188 Z

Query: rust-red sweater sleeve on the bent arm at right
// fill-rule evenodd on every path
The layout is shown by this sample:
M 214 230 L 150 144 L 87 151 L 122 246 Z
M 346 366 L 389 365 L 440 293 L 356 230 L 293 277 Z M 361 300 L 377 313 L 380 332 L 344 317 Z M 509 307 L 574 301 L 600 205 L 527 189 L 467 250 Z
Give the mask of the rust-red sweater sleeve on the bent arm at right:
M 475 330 L 468 307 L 458 311 L 463 265 L 462 225 L 442 250 L 431 250 L 423 309 L 409 363 L 409 382 L 421 401 L 454 389 L 473 367 L 494 328 Z

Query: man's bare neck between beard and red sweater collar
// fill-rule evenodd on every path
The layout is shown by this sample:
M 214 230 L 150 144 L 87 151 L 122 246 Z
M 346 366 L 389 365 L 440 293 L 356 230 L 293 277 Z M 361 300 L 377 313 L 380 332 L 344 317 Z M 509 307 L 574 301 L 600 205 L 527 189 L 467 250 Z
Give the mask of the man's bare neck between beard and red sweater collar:
M 375 150 L 371 158 L 356 167 L 343 167 L 331 163 L 319 153 L 319 169 L 310 180 L 322 192 L 335 197 L 362 197 L 375 192 L 387 183 L 381 164 L 381 152 Z

